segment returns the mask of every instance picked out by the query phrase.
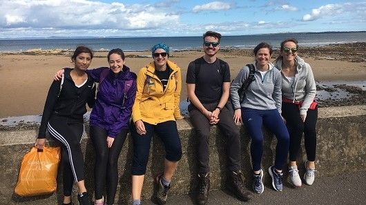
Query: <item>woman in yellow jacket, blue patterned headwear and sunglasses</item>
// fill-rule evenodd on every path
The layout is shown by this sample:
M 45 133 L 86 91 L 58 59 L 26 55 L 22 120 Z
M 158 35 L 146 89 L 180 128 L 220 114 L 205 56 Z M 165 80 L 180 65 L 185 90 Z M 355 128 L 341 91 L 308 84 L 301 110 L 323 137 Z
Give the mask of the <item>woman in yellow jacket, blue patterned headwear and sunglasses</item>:
M 154 132 L 162 139 L 166 151 L 164 173 L 157 175 L 155 179 L 156 199 L 159 204 L 166 203 L 171 178 L 182 157 L 180 137 L 175 123 L 175 119 L 182 119 L 179 108 L 182 89 L 180 68 L 173 61 L 168 60 L 169 48 L 164 43 L 153 46 L 152 55 L 154 61 L 139 70 L 137 75 L 137 93 L 132 108 L 133 205 L 140 204 Z

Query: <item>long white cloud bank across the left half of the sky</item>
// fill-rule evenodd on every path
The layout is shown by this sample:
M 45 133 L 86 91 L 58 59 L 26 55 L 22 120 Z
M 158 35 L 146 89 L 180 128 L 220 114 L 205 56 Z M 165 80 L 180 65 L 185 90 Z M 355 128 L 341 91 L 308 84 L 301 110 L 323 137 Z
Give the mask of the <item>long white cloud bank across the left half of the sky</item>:
M 2 1 L 0 29 L 145 30 L 179 23 L 180 17 L 169 12 L 151 5 L 90 0 Z

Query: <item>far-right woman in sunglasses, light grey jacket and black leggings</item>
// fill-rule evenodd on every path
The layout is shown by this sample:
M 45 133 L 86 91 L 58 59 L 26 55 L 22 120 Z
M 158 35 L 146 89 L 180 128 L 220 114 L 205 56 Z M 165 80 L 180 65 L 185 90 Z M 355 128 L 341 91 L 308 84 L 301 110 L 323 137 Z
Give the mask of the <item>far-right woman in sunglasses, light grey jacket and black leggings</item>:
M 316 155 L 316 120 L 318 106 L 314 101 L 316 84 L 309 64 L 298 57 L 298 41 L 286 39 L 282 41 L 280 56 L 275 66 L 282 75 L 282 117 L 286 120 L 290 134 L 289 176 L 293 186 L 301 186 L 296 158 L 300 149 L 302 133 L 305 134 L 305 183 L 314 182 Z

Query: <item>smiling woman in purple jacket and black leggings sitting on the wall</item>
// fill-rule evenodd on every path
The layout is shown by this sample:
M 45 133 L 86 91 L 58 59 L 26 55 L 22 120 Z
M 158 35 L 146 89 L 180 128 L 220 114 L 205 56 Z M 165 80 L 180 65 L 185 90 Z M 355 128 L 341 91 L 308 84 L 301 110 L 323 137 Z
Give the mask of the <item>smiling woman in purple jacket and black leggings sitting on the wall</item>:
M 117 191 L 119 153 L 128 133 L 128 124 L 136 96 L 136 74 L 124 65 L 124 52 L 119 49 L 108 53 L 109 68 L 86 72 L 96 82 L 99 91 L 90 113 L 90 138 L 95 148 L 95 204 L 114 204 Z M 58 73 L 59 75 L 59 73 Z

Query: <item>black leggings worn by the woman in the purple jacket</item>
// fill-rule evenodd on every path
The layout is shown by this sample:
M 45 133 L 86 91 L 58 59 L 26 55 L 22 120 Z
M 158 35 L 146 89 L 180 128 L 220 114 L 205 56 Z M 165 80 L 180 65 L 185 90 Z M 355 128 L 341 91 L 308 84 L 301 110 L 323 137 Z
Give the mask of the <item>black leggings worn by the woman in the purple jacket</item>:
M 90 138 L 95 148 L 95 199 L 102 199 L 106 185 L 107 202 L 114 204 L 118 184 L 117 162 L 128 129 L 121 130 L 110 148 L 107 146 L 107 131 L 98 126 L 90 126 Z M 107 181 L 107 182 L 106 182 Z

